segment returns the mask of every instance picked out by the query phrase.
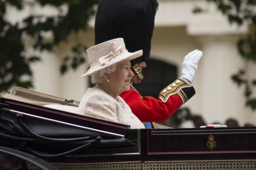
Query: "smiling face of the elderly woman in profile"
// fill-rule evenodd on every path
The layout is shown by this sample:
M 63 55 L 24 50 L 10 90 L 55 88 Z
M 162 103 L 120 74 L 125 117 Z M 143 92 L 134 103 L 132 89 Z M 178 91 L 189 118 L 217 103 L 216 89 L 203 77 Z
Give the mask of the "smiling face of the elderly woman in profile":
M 131 63 L 129 60 L 125 60 L 116 65 L 114 72 L 109 74 L 109 82 L 112 91 L 115 91 L 117 95 L 123 91 L 130 89 L 130 81 L 132 79 L 133 72 L 131 70 Z

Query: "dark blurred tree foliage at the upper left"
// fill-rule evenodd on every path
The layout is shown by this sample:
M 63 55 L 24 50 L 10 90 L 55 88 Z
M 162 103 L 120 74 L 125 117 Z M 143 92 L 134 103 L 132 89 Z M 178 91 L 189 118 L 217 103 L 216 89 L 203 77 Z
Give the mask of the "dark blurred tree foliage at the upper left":
M 33 48 L 54 52 L 59 43 L 66 41 L 72 32 L 87 30 L 88 21 L 95 15 L 95 5 L 100 0 L 30 0 L 26 2 L 40 6 L 52 6 L 59 15 L 46 17 L 31 13 L 23 21 L 10 23 L 6 19 L 7 8 L 12 6 L 23 10 L 26 0 L 0 0 L 0 92 L 7 91 L 16 85 L 24 88 L 33 87 L 33 72 L 30 64 L 39 62 L 39 56 L 27 56 L 25 53 L 24 36 L 33 39 Z M 63 15 L 63 6 L 67 13 Z M 44 40 L 43 32 L 52 33 L 52 41 Z M 66 56 L 60 68 L 65 73 L 69 68 L 76 69 L 85 62 L 81 53 L 86 47 L 77 43 L 72 55 Z

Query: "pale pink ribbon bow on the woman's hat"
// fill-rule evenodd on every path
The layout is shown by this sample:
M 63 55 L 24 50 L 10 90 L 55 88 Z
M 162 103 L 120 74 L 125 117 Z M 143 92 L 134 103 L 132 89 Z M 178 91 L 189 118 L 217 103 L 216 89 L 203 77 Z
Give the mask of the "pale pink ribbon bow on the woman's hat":
M 111 50 L 110 54 L 104 55 L 99 58 L 98 61 L 102 66 L 104 66 L 105 64 L 112 63 L 114 61 L 115 56 L 121 53 L 122 46 L 120 45 L 115 49 L 115 45 L 116 45 L 115 42 L 110 42 L 110 50 Z

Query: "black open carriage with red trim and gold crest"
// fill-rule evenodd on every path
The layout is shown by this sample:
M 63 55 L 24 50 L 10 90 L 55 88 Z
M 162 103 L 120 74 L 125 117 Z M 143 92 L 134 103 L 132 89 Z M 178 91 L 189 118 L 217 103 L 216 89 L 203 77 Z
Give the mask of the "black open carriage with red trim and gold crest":
M 78 115 L 78 103 L 15 88 L 0 98 L 0 152 L 30 170 L 256 169 L 256 127 L 132 130 Z

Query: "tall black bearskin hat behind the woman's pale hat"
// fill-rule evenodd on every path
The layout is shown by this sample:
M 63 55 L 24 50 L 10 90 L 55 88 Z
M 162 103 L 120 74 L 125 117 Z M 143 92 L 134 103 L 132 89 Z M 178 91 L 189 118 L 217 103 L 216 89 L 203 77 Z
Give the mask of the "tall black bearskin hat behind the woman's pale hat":
M 129 52 L 143 50 L 132 64 L 148 60 L 157 8 L 156 0 L 101 0 L 95 18 L 95 45 L 124 38 Z

